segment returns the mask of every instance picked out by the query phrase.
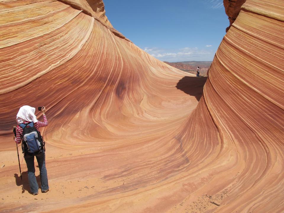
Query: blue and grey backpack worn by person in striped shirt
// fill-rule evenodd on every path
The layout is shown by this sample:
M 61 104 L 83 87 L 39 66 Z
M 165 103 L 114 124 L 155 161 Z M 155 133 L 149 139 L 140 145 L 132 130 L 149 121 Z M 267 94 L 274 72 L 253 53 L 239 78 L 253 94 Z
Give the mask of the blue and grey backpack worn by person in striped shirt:
M 35 154 L 40 151 L 45 151 L 45 143 L 41 136 L 41 133 L 34 127 L 33 122 L 28 124 L 19 124 L 23 129 L 22 134 L 22 150 L 23 153 Z

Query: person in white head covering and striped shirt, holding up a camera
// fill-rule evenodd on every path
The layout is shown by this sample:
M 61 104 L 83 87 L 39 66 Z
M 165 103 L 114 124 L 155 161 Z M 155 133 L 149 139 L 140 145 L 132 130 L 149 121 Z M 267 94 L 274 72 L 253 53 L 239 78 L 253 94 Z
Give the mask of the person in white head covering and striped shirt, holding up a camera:
M 40 122 L 36 119 L 35 108 L 30 106 L 22 106 L 19 109 L 16 118 L 16 121 L 18 123 L 16 127 L 16 137 L 14 137 L 14 140 L 17 144 L 21 143 L 22 139 L 22 149 L 28 168 L 28 180 L 30 185 L 30 192 L 33 195 L 38 194 L 38 183 L 35 178 L 34 157 L 36 157 L 40 171 L 41 192 L 45 193 L 49 191 L 47 171 L 45 167 L 44 142 L 41 138 L 40 132 L 38 132 L 38 128 L 47 126 L 48 122 L 45 115 L 46 111 L 45 107 L 44 106 L 38 107 L 38 110 L 40 110 L 43 114 L 43 122 Z M 29 135 L 33 134 L 35 134 L 36 136 L 30 139 L 31 137 L 29 137 Z M 33 144 L 33 141 L 36 142 L 34 142 Z

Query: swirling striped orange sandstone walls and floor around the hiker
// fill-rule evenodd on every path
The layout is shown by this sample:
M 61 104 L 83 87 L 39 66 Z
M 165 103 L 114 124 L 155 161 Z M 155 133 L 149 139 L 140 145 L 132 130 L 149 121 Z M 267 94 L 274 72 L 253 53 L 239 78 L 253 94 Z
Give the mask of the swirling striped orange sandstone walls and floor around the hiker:
M 1 1 L 0 211 L 283 212 L 283 9 L 247 0 L 205 83 L 114 30 L 102 1 Z M 24 104 L 48 108 L 36 197 L 10 133 Z

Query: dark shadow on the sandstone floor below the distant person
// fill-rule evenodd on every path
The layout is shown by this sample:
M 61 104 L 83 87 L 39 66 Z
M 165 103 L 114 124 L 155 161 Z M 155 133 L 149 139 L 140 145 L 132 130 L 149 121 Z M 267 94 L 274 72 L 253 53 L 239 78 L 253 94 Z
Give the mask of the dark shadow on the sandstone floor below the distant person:
M 178 84 L 175 87 L 188 95 L 195 96 L 199 101 L 206 80 L 207 77 L 185 76 L 178 81 Z

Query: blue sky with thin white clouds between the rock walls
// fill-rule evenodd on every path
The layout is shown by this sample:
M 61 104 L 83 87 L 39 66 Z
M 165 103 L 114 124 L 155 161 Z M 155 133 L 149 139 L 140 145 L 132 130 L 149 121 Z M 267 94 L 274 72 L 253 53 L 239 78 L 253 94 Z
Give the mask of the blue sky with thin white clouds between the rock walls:
M 229 20 L 223 0 L 104 0 L 113 27 L 161 61 L 212 61 Z

